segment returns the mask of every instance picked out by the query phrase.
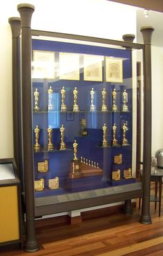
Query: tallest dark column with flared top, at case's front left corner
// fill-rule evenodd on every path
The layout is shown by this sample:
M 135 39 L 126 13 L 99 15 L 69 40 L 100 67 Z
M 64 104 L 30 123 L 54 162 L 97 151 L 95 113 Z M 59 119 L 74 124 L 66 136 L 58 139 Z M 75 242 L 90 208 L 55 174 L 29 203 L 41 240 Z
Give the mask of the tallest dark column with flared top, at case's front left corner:
M 21 80 L 22 80 L 22 120 L 23 120 L 23 170 L 26 201 L 26 244 L 25 250 L 39 249 L 35 237 L 35 194 L 32 152 L 32 99 L 31 99 L 31 53 L 32 39 L 30 22 L 35 7 L 21 3 L 17 6 L 21 16 Z

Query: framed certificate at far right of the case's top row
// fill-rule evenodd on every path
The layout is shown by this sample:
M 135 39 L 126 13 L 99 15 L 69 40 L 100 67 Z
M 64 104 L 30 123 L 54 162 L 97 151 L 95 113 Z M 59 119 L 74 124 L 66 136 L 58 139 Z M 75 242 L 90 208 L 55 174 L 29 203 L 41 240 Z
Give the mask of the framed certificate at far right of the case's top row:
M 106 57 L 106 82 L 123 82 L 123 59 Z

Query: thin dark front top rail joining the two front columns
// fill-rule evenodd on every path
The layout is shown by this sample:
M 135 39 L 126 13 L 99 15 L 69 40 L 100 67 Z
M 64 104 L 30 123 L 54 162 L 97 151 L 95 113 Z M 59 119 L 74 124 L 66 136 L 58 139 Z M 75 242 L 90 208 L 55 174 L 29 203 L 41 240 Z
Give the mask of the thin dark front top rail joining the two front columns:
M 135 44 L 131 42 L 123 42 L 113 39 L 104 39 L 99 37 L 88 37 L 84 35 L 73 35 L 73 34 L 66 34 L 66 33 L 56 33 L 44 30 L 31 30 L 31 34 L 35 36 L 46 36 L 46 37 L 58 37 L 64 39 L 74 39 L 79 41 L 86 41 L 86 42 L 95 42 L 100 44 L 112 44 L 116 46 L 128 47 L 133 49 L 142 49 L 144 48 L 143 44 Z

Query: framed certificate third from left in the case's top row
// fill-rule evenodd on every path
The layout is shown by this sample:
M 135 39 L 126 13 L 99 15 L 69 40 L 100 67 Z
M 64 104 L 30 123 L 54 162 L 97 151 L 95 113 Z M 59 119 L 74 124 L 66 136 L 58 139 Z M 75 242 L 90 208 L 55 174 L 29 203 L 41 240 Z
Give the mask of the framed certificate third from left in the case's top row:
M 102 82 L 102 61 L 104 56 L 84 55 L 84 80 Z

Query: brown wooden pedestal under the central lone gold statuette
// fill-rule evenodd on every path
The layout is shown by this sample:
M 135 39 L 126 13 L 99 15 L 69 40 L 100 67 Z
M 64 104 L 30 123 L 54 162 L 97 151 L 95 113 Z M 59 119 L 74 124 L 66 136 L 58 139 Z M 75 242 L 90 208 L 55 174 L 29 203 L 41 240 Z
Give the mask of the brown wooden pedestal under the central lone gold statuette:
M 78 179 L 81 178 L 81 162 L 79 159 L 70 161 L 70 172 L 69 178 L 71 179 Z

